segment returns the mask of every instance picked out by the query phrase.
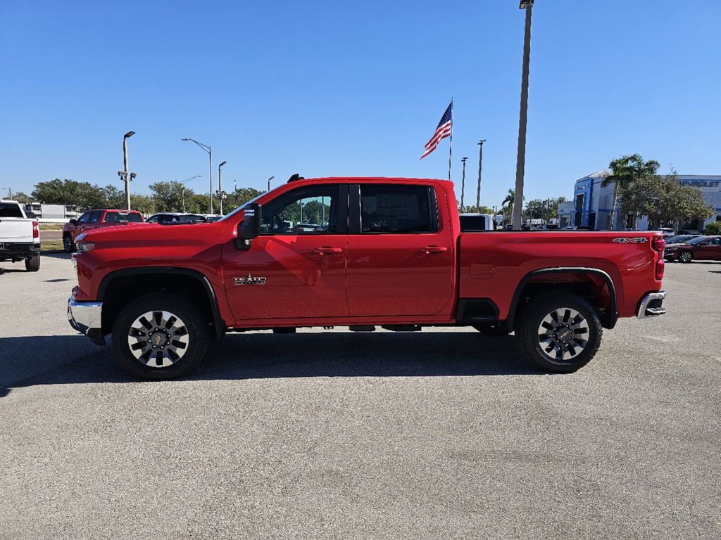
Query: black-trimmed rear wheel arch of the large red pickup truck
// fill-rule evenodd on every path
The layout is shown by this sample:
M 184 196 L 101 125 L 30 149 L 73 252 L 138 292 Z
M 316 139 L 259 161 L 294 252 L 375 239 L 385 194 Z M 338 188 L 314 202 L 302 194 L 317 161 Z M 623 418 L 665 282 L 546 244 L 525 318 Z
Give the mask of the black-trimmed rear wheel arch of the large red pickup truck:
M 570 274 L 574 276 L 575 279 L 570 279 L 569 282 L 558 282 L 559 274 Z M 556 280 L 547 279 L 551 276 L 555 277 Z M 587 279 L 578 279 L 583 276 Z M 591 276 L 597 280 L 600 279 L 603 285 L 598 287 L 598 284 Z M 547 280 L 544 281 L 544 278 Z M 518 287 L 516 287 L 513 300 L 511 300 L 510 303 L 510 309 L 508 311 L 508 324 L 510 328 L 513 328 L 514 321 L 518 317 L 518 312 L 523 308 L 524 299 L 536 297 L 539 294 L 545 295 L 547 292 L 553 291 L 559 294 L 571 292 L 590 297 L 589 299 L 593 299 L 596 307 L 603 310 L 601 316 L 603 328 L 614 328 L 616 325 L 616 320 L 618 320 L 619 315 L 617 310 L 616 287 L 611 276 L 609 276 L 606 271 L 597 268 L 563 266 L 538 269 L 523 276 Z M 607 301 L 605 300 L 605 296 L 608 297 Z

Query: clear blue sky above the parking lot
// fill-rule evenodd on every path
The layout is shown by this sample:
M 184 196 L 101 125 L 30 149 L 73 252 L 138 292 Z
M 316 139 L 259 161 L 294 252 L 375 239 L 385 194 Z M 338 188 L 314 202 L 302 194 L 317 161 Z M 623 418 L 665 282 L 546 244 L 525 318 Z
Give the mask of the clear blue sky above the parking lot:
M 71 178 L 133 190 L 268 176 L 444 178 L 418 158 L 455 97 L 454 180 L 485 138 L 483 204 L 516 170 L 523 12 L 516 0 L 3 2 L 0 187 Z M 721 174 L 721 2 L 536 0 L 526 199 L 623 153 Z M 217 178 L 215 178 L 217 181 Z M 474 199 L 466 185 L 466 199 Z M 459 192 L 459 188 L 456 189 Z M 2 196 L 5 191 L 0 191 Z

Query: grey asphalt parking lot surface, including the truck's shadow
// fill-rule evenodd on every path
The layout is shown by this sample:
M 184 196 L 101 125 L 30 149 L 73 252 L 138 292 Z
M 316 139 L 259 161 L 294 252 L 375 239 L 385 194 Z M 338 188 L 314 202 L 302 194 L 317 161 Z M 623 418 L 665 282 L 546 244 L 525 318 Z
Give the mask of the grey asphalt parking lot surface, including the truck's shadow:
M 512 337 L 228 336 L 128 379 L 63 254 L 0 263 L 0 538 L 720 538 L 721 263 L 571 375 Z

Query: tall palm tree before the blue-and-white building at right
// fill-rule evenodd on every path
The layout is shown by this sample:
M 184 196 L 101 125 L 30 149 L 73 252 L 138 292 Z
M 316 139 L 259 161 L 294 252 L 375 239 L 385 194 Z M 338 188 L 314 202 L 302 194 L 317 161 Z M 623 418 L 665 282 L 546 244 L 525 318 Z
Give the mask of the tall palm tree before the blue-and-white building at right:
M 616 221 L 616 204 L 619 202 L 619 196 L 625 192 L 627 206 L 626 210 L 633 213 L 633 228 L 636 228 L 639 216 L 639 204 L 642 204 L 642 197 L 634 199 L 635 196 L 642 194 L 634 192 L 634 184 L 640 185 L 643 179 L 649 176 L 655 176 L 656 171 L 660 167 L 660 163 L 655 160 L 644 161 L 640 154 L 632 154 L 631 156 L 621 156 L 609 163 L 611 175 L 606 176 L 601 182 L 602 187 L 614 184 L 614 199 L 611 204 L 611 214 L 609 215 L 609 230 L 613 230 Z

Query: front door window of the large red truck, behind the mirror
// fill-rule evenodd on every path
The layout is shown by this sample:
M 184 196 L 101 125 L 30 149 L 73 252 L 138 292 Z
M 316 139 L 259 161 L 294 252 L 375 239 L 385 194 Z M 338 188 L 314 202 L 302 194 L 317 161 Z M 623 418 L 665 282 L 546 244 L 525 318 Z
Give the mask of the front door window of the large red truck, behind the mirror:
M 263 205 L 262 235 L 337 233 L 337 184 L 304 186 Z

